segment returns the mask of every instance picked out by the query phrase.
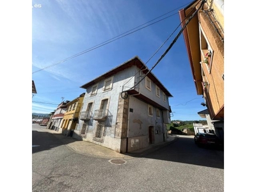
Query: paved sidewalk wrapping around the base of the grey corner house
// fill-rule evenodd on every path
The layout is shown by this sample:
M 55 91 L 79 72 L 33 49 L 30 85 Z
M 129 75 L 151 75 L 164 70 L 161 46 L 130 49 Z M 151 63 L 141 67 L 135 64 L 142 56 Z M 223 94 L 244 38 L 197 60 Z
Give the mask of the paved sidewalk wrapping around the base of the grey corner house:
M 159 148 L 162 148 L 177 140 L 175 136 L 168 135 L 169 138 L 167 138 L 167 140 L 162 143 L 152 144 L 146 148 L 141 148 L 140 150 L 136 150 L 134 152 L 120 154 L 118 152 L 115 152 L 114 150 L 111 150 L 110 148 L 102 147 L 88 141 L 76 140 L 74 138 L 64 136 L 61 133 L 58 134 L 58 132 L 51 129 L 47 129 L 47 131 L 54 133 L 54 135 L 58 137 L 68 148 L 74 150 L 74 152 L 77 152 L 78 154 L 108 159 L 131 159 L 134 157 L 144 156 L 145 154 L 154 152 L 155 150 L 158 150 Z

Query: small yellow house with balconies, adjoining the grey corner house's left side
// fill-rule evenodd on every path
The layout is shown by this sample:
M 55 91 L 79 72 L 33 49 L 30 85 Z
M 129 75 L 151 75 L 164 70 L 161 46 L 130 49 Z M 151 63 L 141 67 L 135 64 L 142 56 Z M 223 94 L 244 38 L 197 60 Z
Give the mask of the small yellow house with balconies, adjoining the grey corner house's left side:
M 84 94 L 85 93 L 82 93 L 79 97 L 66 104 L 67 112 L 63 116 L 59 130 L 59 132 L 62 132 L 62 134 L 65 134 L 66 136 L 72 136 L 72 131 L 76 129 L 79 113 L 84 100 Z

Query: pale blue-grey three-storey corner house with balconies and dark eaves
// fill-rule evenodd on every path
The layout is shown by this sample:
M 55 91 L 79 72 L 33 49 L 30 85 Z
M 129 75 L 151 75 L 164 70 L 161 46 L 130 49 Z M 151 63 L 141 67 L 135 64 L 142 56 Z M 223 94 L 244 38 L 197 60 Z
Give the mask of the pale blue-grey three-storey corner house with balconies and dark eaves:
M 120 153 L 166 140 L 173 96 L 138 56 L 81 88 L 86 93 L 74 138 Z

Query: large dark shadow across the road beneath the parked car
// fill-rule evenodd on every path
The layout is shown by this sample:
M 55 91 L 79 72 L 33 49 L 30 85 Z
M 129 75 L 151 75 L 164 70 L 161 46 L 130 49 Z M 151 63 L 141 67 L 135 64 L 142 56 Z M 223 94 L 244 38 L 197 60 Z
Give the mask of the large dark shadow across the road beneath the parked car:
M 162 147 L 152 147 L 141 154 L 129 154 L 133 157 L 159 159 L 177 163 L 195 164 L 224 169 L 224 151 L 215 147 L 198 147 L 193 138 L 177 137 L 177 140 Z

